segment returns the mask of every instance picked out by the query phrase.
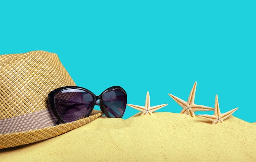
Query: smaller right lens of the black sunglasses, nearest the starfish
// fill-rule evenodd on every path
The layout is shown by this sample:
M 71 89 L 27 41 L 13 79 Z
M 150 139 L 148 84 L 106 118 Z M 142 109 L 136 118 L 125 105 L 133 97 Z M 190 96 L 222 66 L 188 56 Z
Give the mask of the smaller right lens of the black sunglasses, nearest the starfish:
M 126 109 L 126 93 L 121 89 L 114 89 L 102 95 L 103 105 L 110 117 L 121 118 Z

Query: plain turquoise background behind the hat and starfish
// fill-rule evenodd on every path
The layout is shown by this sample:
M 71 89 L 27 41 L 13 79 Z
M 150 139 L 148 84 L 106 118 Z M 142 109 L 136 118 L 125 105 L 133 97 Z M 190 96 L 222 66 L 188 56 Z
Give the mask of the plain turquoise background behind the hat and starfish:
M 78 86 L 120 85 L 128 103 L 187 101 L 256 122 L 255 0 L 1 0 L 0 54 L 57 53 Z M 127 107 L 124 118 L 138 111 Z M 196 114 L 213 114 L 197 112 Z

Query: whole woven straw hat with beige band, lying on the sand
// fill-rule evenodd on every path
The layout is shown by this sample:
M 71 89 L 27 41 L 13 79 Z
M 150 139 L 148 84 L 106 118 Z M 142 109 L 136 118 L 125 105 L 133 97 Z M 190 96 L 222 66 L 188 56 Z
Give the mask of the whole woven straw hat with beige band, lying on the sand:
M 50 91 L 74 81 L 58 56 L 45 51 L 0 55 L 0 149 L 52 138 L 102 115 L 55 125 L 49 108 Z

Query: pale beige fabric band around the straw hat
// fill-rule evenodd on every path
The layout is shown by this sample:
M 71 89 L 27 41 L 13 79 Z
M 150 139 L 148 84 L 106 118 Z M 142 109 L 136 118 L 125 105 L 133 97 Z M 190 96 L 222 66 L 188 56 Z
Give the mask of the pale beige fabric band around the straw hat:
M 37 112 L 0 120 L 0 134 L 11 134 L 21 131 L 30 131 L 56 124 L 57 118 L 51 110 L 43 109 Z

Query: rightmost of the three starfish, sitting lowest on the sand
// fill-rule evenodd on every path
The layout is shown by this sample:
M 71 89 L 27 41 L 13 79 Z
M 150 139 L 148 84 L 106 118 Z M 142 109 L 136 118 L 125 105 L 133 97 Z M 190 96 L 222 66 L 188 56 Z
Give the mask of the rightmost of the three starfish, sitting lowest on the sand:
M 215 96 L 215 105 L 214 105 L 214 115 L 198 115 L 201 118 L 206 118 L 208 120 L 212 121 L 212 124 L 217 124 L 217 123 L 223 123 L 227 117 L 229 117 L 233 112 L 235 112 L 238 109 L 231 109 L 228 112 L 225 112 L 223 114 L 220 113 L 220 106 L 219 106 L 219 101 L 218 101 L 218 95 L 216 94 Z

